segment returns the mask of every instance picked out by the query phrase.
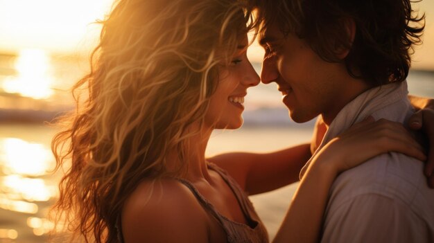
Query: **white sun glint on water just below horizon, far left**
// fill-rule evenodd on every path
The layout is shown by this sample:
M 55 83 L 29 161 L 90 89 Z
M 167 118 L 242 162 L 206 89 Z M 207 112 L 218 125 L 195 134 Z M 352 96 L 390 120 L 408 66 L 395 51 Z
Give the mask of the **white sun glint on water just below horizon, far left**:
M 19 93 L 21 96 L 35 99 L 49 98 L 53 91 L 53 78 L 50 75 L 50 58 L 46 52 L 38 49 L 26 49 L 19 53 L 15 69 L 17 77 L 8 77 L 3 83 L 7 93 Z

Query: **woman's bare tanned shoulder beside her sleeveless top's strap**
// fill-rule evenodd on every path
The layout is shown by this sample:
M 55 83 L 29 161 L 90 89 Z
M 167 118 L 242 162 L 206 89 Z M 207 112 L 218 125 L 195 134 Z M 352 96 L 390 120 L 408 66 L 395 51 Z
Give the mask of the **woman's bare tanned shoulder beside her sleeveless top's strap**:
M 125 201 L 122 231 L 126 242 L 207 242 L 207 213 L 175 179 L 142 181 Z

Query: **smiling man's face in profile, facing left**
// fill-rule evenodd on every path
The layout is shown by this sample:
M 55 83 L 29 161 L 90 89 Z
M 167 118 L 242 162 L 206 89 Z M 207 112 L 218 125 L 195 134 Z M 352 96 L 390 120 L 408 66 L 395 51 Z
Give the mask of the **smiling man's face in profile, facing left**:
M 295 122 L 304 123 L 319 114 L 336 116 L 342 108 L 340 93 L 345 91 L 345 83 L 338 78 L 347 72 L 343 64 L 325 62 L 303 39 L 285 36 L 275 24 L 266 28 L 259 42 L 266 49 L 261 81 L 277 83 Z

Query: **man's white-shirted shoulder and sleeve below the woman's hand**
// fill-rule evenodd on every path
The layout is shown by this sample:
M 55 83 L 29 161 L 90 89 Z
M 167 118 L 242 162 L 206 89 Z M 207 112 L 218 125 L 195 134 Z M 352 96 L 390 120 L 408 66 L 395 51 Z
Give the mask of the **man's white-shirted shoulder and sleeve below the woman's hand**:
M 398 160 L 401 156 L 381 154 L 340 174 L 330 190 L 323 242 L 349 242 L 352 237 L 385 242 L 390 235 L 396 237 L 390 242 L 429 242 L 426 237 L 434 236 L 434 190 L 427 186 L 423 163 Z

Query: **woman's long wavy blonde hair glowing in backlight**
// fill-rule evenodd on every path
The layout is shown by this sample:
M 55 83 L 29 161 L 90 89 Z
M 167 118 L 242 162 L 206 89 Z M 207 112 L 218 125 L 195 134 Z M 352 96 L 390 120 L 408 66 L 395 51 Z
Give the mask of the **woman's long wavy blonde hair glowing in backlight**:
M 120 0 L 101 21 L 91 71 L 73 87 L 76 111 L 58 120 L 52 150 L 65 170 L 55 218 L 86 242 L 116 242 L 125 199 L 146 178 L 185 161 L 218 81 L 252 12 L 236 0 Z M 83 100 L 83 96 L 85 99 Z M 76 239 L 77 240 L 77 239 Z

